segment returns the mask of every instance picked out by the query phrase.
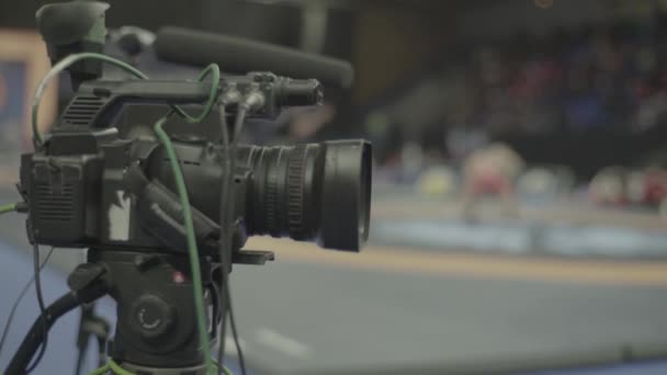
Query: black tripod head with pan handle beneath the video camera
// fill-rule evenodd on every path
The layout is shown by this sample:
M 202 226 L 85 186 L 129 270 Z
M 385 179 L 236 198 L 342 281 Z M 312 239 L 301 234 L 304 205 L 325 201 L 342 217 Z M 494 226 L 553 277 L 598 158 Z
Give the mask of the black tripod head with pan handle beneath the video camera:
M 221 304 L 213 283 L 219 277 L 219 266 L 203 258 L 201 268 L 210 337 L 215 341 Z M 71 292 L 35 320 L 7 375 L 25 373 L 42 343 L 44 323 L 49 329 L 63 315 L 106 294 L 117 306 L 109 354 L 121 367 L 146 375 L 206 374 L 185 254 L 90 249 L 88 262 L 69 275 L 68 285 Z

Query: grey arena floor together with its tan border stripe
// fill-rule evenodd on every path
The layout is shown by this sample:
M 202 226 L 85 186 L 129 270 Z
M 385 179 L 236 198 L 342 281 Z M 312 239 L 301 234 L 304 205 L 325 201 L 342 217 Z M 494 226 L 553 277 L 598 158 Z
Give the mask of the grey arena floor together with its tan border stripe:
M 396 202 L 376 206 L 374 220 L 455 221 L 426 203 L 404 207 L 409 209 Z M 540 221 L 572 223 L 556 207 Z M 544 219 L 552 216 L 558 219 Z M 643 216 L 645 223 L 602 212 L 595 217 L 581 223 L 660 235 L 660 225 Z M 16 218 L 0 217 L 0 239 L 8 245 L 0 253 L 26 249 L 23 223 Z M 496 219 L 482 221 L 488 223 Z M 252 239 L 247 248 L 276 251 L 275 262 L 236 265 L 231 275 L 242 344 L 255 373 L 518 374 L 596 365 L 603 367 L 586 374 L 667 372 L 665 364 L 653 362 L 667 357 L 667 261 L 388 242 L 374 237 L 362 253 L 350 254 Z M 60 250 L 50 272 L 61 274 L 79 259 L 76 250 Z M 4 300 L 20 287 L 4 283 Z M 9 309 L 3 306 L 2 319 Z M 74 342 L 63 345 L 74 350 Z M 4 364 L 7 356 L 0 360 Z M 614 366 L 632 361 L 642 364 Z

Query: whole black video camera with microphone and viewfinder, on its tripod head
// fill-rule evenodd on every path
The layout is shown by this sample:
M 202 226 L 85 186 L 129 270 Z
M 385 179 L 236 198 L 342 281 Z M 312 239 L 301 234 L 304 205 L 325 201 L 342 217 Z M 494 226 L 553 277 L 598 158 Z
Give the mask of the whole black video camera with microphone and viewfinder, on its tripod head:
M 106 294 L 117 303 L 109 350 L 114 366 L 140 374 L 205 374 L 206 346 L 225 316 L 219 289 L 227 287 L 230 263 L 273 259 L 270 251 L 244 250 L 249 236 L 290 237 L 346 251 L 359 251 L 369 236 L 369 143 L 236 143 L 247 116 L 272 118 L 283 107 L 320 104 L 318 80 L 272 72 L 217 77 L 216 69 L 199 81 L 103 80 L 103 61 L 145 78 L 93 54 L 103 50 L 108 7 L 70 2 L 37 12 L 52 76 L 67 70 L 76 93 L 45 137 L 33 118 L 35 150 L 21 159 L 19 211 L 29 214 L 34 246 L 88 248 L 88 262 L 70 275 L 71 292 L 35 321 L 7 375 L 25 373 L 57 318 Z M 245 54 L 249 69 L 275 57 L 287 61 L 283 70 L 297 66 L 324 81 L 351 77 L 341 61 L 282 47 L 179 29 L 162 34 L 158 55 L 178 55 L 177 44 L 199 43 L 210 47 L 205 50 L 236 54 L 234 70 Z M 168 107 L 156 125 L 159 141 L 118 135 L 116 115 L 137 104 Z M 218 107 L 218 139 L 160 133 L 171 115 L 193 120 L 178 106 L 191 104 Z M 234 124 L 233 135 L 227 124 Z

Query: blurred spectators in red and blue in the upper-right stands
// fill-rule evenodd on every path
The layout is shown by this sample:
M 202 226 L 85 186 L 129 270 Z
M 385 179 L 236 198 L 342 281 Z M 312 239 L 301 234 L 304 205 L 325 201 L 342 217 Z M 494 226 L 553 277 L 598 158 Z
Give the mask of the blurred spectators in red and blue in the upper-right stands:
M 466 45 L 446 68 L 454 124 L 513 132 L 644 130 L 667 115 L 667 16 Z

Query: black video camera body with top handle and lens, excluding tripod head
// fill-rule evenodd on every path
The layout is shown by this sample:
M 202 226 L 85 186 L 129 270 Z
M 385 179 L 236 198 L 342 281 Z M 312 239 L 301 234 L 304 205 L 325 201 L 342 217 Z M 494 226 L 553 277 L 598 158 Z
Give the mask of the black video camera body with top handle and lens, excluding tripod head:
M 318 105 L 316 80 L 253 72 L 225 77 L 229 91 L 257 92 L 253 115 L 284 106 Z M 211 83 L 173 81 L 82 82 L 35 152 L 22 156 L 21 193 L 30 202 L 32 240 L 55 247 L 174 251 L 186 249 L 182 212 L 163 147 L 154 139 L 122 139 L 113 126 L 127 104 L 204 102 Z M 234 113 L 231 113 L 234 115 Z M 234 249 L 248 236 L 315 240 L 358 251 L 368 238 L 371 148 L 364 140 L 286 147 L 240 145 L 234 183 L 223 183 L 224 146 L 196 136 L 172 136 L 193 206 L 202 254 L 217 249 L 221 191 L 234 189 Z M 341 190 L 347 192 L 341 194 Z M 252 257 L 236 261 L 261 263 Z

